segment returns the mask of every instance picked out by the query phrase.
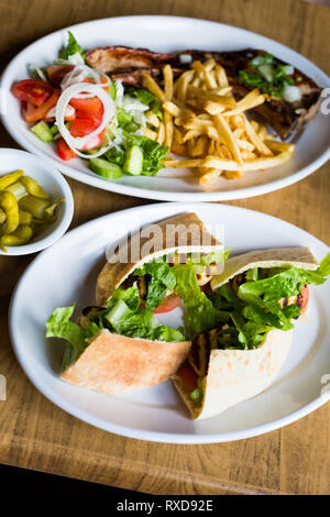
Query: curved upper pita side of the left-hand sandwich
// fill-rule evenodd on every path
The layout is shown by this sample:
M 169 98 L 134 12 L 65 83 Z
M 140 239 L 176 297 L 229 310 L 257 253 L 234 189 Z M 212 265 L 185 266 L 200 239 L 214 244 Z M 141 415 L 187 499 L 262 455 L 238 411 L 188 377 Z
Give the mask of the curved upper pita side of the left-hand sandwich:
M 208 231 L 196 213 L 179 213 L 154 224 L 157 224 L 158 232 L 153 233 L 153 226 L 147 226 L 128 239 L 120 250 L 123 257 L 130 257 L 131 245 L 136 242 L 141 250 L 139 260 L 113 263 L 113 257 L 117 256 L 113 254 L 103 266 L 96 287 L 98 305 L 107 306 L 113 289 L 119 287 L 136 267 L 141 267 L 146 262 L 175 251 L 179 251 L 179 253 L 210 253 L 223 249 L 223 244 Z M 183 245 L 180 238 L 184 238 L 184 232 L 175 232 L 175 228 L 184 230 L 184 227 L 187 229 L 187 240 Z M 191 230 L 191 232 L 188 232 L 188 230 Z M 204 235 L 204 240 L 201 240 L 201 235 Z

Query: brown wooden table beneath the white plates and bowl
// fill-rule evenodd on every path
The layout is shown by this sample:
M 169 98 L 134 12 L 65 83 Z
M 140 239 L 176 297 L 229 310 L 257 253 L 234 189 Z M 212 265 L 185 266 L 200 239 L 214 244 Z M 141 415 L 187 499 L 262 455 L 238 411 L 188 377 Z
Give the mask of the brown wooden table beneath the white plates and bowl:
M 280 41 L 329 73 L 330 10 L 299 0 L 11 0 L 0 2 L 0 63 L 28 43 L 77 22 L 123 14 L 176 14 L 230 23 Z M 16 146 L 1 132 L 2 146 Z M 147 200 L 69 180 L 73 227 Z M 261 210 L 330 245 L 330 165 L 266 196 L 231 205 Z M 97 201 L 97 202 L 96 202 Z M 15 361 L 7 310 L 33 256 L 0 257 L 0 462 L 154 494 L 329 494 L 330 404 L 268 435 L 232 443 L 167 446 L 121 438 L 70 417 L 30 384 Z

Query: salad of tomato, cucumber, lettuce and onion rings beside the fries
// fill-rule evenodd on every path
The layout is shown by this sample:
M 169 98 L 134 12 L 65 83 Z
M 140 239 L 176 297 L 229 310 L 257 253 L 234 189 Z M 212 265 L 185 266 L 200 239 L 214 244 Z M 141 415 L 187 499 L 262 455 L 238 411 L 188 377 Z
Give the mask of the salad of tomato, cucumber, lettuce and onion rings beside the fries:
M 33 68 L 35 77 L 13 85 L 12 94 L 31 131 L 55 143 L 63 161 L 80 156 L 108 179 L 153 176 L 163 167 L 168 147 L 145 135 L 163 119 L 161 102 L 150 91 L 124 87 L 87 66 L 70 32 L 52 65 Z

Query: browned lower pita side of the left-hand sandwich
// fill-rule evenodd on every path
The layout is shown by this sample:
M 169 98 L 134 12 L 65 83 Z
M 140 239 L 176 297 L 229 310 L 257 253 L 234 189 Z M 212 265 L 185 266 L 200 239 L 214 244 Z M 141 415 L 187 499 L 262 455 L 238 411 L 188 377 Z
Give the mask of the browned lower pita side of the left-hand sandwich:
M 150 341 L 101 330 L 61 377 L 109 395 L 142 389 L 173 375 L 190 345 L 190 341 Z

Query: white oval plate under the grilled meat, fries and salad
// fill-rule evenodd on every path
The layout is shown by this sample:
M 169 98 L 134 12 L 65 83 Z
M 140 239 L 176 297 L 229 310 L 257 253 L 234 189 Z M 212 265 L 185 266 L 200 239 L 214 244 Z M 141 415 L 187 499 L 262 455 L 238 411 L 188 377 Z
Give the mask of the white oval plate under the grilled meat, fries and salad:
M 293 64 L 321 87 L 330 87 L 329 77 L 308 59 L 267 37 L 230 25 L 174 16 L 124 16 L 95 20 L 69 28 L 84 50 L 97 46 L 129 45 L 152 51 L 184 48 L 226 51 L 264 48 Z M 155 177 L 124 175 L 106 180 L 89 170 L 82 160 L 64 163 L 55 146 L 41 142 L 22 119 L 20 102 L 11 95 L 13 82 L 29 77 L 29 64 L 51 64 L 66 41 L 67 29 L 54 32 L 22 51 L 7 67 L 1 80 L 2 120 L 9 133 L 26 150 L 47 157 L 67 176 L 114 193 L 167 201 L 221 201 L 246 198 L 286 187 L 320 167 L 330 155 L 330 118 L 321 113 L 307 125 L 297 141 L 294 158 L 266 172 L 251 172 L 243 178 L 219 178 L 201 186 L 187 169 L 163 169 Z M 194 42 L 194 43 L 191 43 Z

